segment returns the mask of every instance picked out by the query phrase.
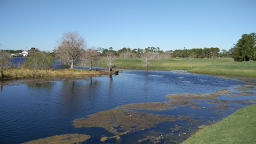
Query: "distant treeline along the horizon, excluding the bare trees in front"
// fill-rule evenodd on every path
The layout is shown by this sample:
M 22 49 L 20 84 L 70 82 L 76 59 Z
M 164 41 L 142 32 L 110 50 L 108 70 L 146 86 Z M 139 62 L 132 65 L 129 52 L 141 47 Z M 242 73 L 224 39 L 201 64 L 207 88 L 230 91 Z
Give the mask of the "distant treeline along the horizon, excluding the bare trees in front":
M 37 49 L 37 48 L 36 48 Z M 38 49 L 37 49 L 38 50 Z M 209 58 L 209 57 L 232 57 L 235 61 L 247 61 L 256 60 L 256 34 L 242 34 L 241 38 L 234 44 L 228 51 L 225 49 L 219 49 L 218 47 L 204 47 L 204 48 L 192 48 L 176 49 L 176 50 L 160 50 L 159 47 L 147 47 L 147 48 L 134 48 L 123 47 L 119 50 L 113 50 L 112 47 L 96 48 L 97 52 L 100 52 L 101 56 L 106 56 L 107 53 L 113 53 L 119 58 L 141 58 L 147 55 L 150 59 L 168 59 L 170 57 L 192 57 L 192 58 Z M 3 50 L 9 53 L 18 53 L 22 50 Z M 43 51 L 45 52 L 45 51 Z M 52 52 L 47 52 L 53 57 L 56 55 L 57 49 L 53 49 Z

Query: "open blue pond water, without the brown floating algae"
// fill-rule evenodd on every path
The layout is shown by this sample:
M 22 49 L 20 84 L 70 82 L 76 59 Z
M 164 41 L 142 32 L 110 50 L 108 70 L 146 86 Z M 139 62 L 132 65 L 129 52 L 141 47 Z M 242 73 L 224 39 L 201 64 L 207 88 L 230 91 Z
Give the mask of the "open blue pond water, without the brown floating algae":
M 166 94 L 214 93 L 223 88 L 231 90 L 234 85 L 241 84 L 245 82 L 211 75 L 170 71 L 122 71 L 112 77 L 107 75 L 82 80 L 64 78 L 58 81 L 3 85 L 0 91 L 0 143 L 22 143 L 66 133 L 88 134 L 94 139 L 93 143 L 97 143 L 100 142 L 101 135 L 113 134 L 99 127 L 74 128 L 71 125 L 72 120 L 128 103 L 168 101 L 170 99 L 165 98 Z M 256 99 L 255 96 L 250 98 Z M 209 104 L 204 102 L 201 106 L 206 107 Z M 189 107 L 144 111 L 174 116 L 189 115 L 207 121 L 219 119 L 237 110 L 232 108 L 216 113 L 217 109 Z M 122 143 L 142 139 L 143 136 L 150 135 L 150 130 L 168 133 L 175 124 L 177 122 L 164 122 L 143 132 L 123 135 Z

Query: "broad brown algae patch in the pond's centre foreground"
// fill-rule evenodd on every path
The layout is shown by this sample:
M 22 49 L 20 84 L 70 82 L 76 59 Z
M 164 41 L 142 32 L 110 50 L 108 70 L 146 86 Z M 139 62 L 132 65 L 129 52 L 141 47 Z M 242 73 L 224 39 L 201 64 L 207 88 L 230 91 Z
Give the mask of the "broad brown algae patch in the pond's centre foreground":
M 75 127 L 103 127 L 116 135 L 150 128 L 164 121 L 177 120 L 172 115 L 153 115 L 122 108 L 99 111 L 87 116 L 88 118 L 75 119 L 73 125 Z

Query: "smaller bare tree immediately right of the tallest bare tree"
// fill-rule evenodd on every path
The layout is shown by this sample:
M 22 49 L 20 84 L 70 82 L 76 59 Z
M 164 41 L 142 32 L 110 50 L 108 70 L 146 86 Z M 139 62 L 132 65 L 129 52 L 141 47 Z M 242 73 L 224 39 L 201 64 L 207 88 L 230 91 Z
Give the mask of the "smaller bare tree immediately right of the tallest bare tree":
M 87 61 L 90 62 L 90 70 L 91 70 L 92 63 L 98 63 L 100 61 L 99 54 L 100 54 L 100 52 L 98 52 L 95 49 L 95 47 L 92 46 L 92 47 L 86 49 L 84 54 L 82 55 L 82 57 L 84 57 L 84 59 L 86 59 Z

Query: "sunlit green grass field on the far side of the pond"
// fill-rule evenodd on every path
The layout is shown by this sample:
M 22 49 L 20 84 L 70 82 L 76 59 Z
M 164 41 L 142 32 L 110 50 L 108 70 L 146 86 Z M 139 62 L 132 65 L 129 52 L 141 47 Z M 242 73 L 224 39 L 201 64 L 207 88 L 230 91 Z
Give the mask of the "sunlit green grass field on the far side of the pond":
M 81 63 L 77 63 L 81 64 Z M 83 64 L 86 65 L 84 62 Z M 93 66 L 106 66 L 102 60 Z M 117 58 L 115 67 L 139 68 L 144 69 L 144 63 L 141 59 L 121 59 Z M 256 76 L 256 61 L 236 62 L 232 58 L 217 58 L 214 65 L 208 58 L 193 58 L 192 67 L 190 67 L 189 58 L 170 58 L 170 59 L 153 59 L 149 60 L 149 69 L 155 70 L 187 70 L 194 73 L 209 74 L 229 74 Z

